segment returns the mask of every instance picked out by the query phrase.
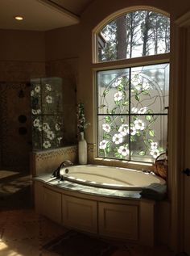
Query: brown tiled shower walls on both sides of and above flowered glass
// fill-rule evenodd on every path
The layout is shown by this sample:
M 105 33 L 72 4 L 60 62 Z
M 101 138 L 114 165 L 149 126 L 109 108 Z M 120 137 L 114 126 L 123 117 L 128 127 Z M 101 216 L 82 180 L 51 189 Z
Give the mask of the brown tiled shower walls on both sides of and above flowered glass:
M 0 61 L 0 167 L 27 171 L 31 146 L 31 78 L 57 76 L 63 79 L 64 144 L 76 144 L 77 60 Z M 21 93 L 21 97 L 20 97 Z M 24 123 L 19 115 L 26 115 Z M 27 133 L 20 134 L 20 130 Z M 21 132 L 22 133 L 22 132 Z

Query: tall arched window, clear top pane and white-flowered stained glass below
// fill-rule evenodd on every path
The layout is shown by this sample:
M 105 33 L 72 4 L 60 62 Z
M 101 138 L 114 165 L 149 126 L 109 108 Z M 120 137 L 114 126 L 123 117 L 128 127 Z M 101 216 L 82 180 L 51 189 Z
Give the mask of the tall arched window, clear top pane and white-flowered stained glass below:
M 167 150 L 170 19 L 130 11 L 95 36 L 97 155 L 154 162 Z

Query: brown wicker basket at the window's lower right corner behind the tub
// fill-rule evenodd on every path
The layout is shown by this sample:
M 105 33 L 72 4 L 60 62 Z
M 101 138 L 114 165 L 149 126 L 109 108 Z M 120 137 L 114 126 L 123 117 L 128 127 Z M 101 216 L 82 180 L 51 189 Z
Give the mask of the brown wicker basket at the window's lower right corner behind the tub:
M 161 159 L 159 159 L 160 157 L 161 157 Z M 167 178 L 167 155 L 166 155 L 166 153 L 161 153 L 161 154 L 159 154 L 158 157 L 155 158 L 154 173 L 164 179 Z

